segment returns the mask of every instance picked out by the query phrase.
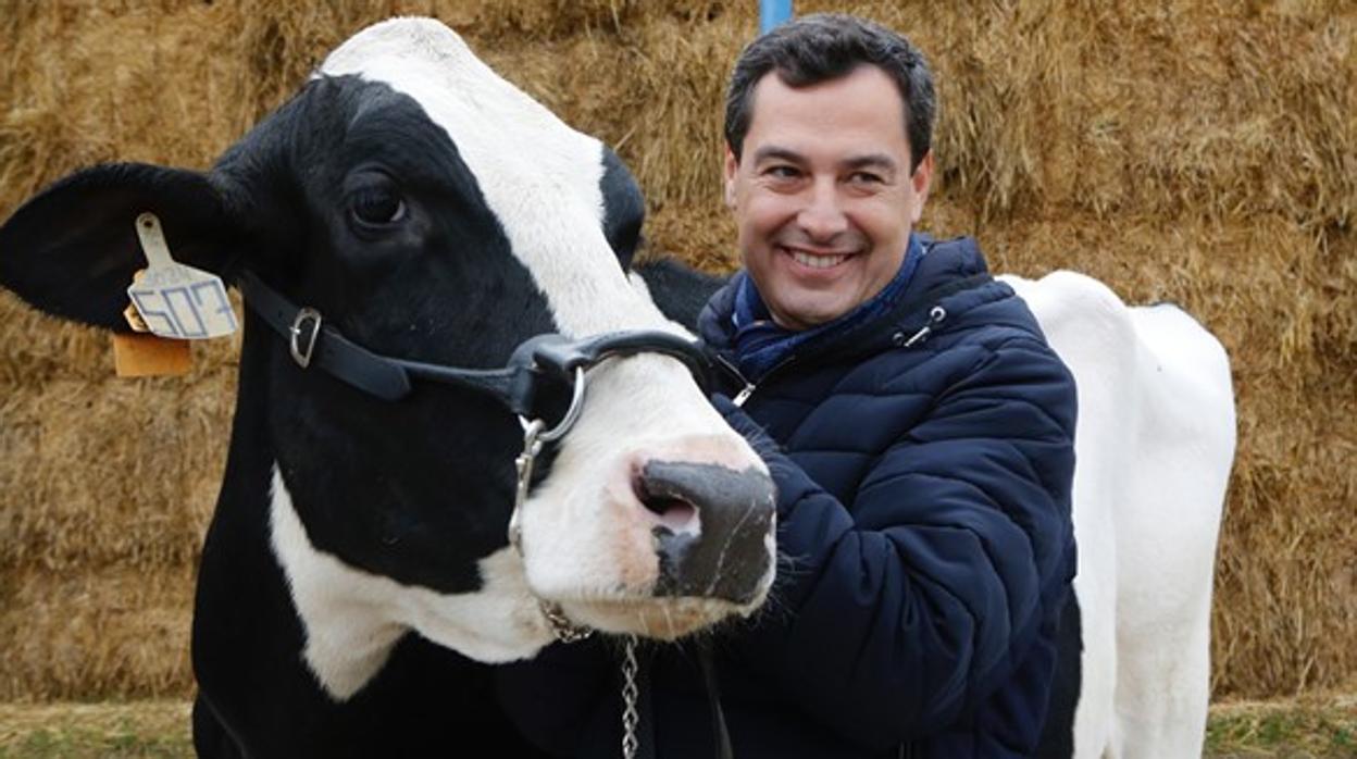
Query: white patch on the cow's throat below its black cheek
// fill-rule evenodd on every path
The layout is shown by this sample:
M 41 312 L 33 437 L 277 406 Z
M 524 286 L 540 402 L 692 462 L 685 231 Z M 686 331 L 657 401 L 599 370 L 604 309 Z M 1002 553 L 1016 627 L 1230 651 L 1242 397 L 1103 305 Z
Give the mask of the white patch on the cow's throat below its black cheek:
M 484 585 L 475 593 L 437 593 L 356 569 L 311 543 L 277 466 L 270 524 L 307 635 L 303 656 L 335 701 L 358 692 L 410 630 L 489 663 L 531 657 L 551 641 L 509 549 L 480 561 Z

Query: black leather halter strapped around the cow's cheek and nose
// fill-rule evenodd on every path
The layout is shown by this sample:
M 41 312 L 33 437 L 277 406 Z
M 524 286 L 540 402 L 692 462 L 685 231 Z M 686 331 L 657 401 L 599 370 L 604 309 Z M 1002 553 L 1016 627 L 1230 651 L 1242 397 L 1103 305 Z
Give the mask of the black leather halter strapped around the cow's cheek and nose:
M 582 339 L 548 333 L 520 344 L 502 369 L 463 369 L 373 353 L 326 325 L 315 308 L 299 308 L 252 272 L 242 276 L 240 291 L 246 304 L 288 341 L 292 358 L 299 367 L 307 369 L 318 365 L 335 379 L 384 401 L 399 401 L 410 395 L 411 377 L 417 377 L 484 392 L 514 414 L 533 418 L 533 403 L 541 380 L 574 383 L 578 395 L 585 369 L 615 356 L 636 353 L 661 353 L 678 358 L 697 383 L 707 387 L 710 364 L 702 348 L 693 341 L 661 330 L 627 330 Z

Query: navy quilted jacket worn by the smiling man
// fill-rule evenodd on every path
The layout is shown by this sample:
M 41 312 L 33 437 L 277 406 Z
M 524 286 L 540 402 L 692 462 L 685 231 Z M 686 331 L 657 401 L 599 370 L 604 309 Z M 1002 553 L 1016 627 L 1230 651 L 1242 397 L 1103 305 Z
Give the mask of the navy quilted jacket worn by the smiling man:
M 718 402 L 769 463 L 783 557 L 764 611 L 711 638 L 738 759 L 1037 744 L 1075 569 L 1075 386 L 973 240 L 925 250 L 893 311 L 799 348 L 742 409 Z M 734 289 L 700 319 L 718 354 Z M 501 694 L 554 754 L 615 756 L 613 660 L 552 646 L 503 668 Z M 693 646 L 647 669 L 655 756 L 711 756 Z

